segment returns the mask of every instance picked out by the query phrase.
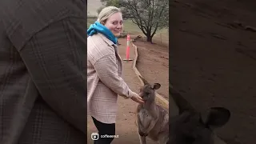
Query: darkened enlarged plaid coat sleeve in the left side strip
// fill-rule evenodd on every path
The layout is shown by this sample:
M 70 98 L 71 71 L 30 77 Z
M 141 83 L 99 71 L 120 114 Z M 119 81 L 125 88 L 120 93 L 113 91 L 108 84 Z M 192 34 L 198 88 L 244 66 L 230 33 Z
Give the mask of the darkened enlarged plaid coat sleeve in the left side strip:
M 19 53 L 43 100 L 86 133 L 86 19 L 51 23 Z

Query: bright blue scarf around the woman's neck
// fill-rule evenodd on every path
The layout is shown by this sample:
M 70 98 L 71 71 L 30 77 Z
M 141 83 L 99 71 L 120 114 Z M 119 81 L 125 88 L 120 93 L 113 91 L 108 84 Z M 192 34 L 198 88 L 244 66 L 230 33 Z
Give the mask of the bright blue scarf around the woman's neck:
M 96 21 L 94 24 L 90 25 L 89 29 L 87 30 L 88 35 L 94 35 L 96 33 L 101 33 L 106 36 L 106 38 L 109 38 L 110 41 L 114 42 L 114 44 L 118 43 L 118 38 L 114 36 L 114 34 L 106 28 L 106 26 L 103 26 L 100 22 Z

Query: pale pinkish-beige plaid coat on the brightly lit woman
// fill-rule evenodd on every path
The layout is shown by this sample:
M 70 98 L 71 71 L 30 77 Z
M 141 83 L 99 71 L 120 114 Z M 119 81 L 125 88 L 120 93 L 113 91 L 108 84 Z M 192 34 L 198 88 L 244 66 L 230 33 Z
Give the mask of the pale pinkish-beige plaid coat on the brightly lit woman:
M 87 38 L 87 114 L 100 122 L 115 123 L 118 95 L 130 98 L 132 91 L 122 76 L 118 47 L 103 34 Z

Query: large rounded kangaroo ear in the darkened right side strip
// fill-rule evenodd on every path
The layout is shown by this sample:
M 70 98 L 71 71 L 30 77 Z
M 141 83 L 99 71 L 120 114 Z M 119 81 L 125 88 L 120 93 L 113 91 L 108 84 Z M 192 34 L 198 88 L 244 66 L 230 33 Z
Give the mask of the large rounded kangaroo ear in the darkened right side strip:
M 209 110 L 201 114 L 202 122 L 211 128 L 226 125 L 230 120 L 230 110 L 224 107 L 211 107 Z

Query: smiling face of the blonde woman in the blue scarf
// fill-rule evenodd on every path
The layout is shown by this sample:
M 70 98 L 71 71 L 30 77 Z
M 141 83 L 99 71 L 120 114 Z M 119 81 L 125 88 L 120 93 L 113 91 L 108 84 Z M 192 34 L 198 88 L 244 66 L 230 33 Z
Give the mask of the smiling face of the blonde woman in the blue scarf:
M 109 18 L 106 19 L 106 23 L 104 24 L 115 37 L 118 37 L 122 33 L 123 28 L 123 20 L 122 13 L 114 13 Z

